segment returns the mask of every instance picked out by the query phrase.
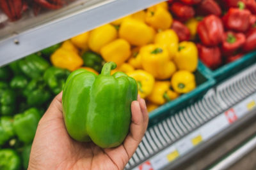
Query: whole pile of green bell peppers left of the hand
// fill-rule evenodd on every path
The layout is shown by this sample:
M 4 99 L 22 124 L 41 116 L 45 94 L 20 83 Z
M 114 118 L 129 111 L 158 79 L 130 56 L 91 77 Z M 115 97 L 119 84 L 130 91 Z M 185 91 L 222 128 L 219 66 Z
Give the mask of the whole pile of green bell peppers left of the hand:
M 70 74 L 49 63 L 59 47 L 0 67 L 0 170 L 28 168 L 38 122 Z

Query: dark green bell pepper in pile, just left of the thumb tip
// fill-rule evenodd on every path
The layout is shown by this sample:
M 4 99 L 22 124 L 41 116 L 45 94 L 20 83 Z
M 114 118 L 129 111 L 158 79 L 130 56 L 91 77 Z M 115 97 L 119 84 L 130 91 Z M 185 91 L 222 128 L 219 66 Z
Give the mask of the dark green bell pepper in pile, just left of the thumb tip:
M 40 106 L 51 99 L 51 92 L 47 89 L 44 78 L 39 77 L 29 81 L 28 86 L 23 91 L 29 106 Z

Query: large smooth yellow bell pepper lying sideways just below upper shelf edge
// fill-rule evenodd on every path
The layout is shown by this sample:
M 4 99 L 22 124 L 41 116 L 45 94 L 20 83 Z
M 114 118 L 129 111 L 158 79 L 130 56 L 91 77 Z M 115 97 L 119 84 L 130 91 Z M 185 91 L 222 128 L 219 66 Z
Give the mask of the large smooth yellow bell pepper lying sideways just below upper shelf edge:
M 119 29 L 120 38 L 126 39 L 131 45 L 143 46 L 154 39 L 156 32 L 147 24 L 134 18 L 127 18 Z

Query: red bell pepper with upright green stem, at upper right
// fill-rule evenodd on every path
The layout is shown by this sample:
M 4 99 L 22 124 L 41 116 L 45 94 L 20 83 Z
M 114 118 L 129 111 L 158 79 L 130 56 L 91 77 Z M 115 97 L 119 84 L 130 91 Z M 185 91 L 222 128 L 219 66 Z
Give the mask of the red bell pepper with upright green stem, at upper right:
M 227 29 L 245 32 L 250 27 L 250 11 L 244 10 L 244 3 L 239 2 L 240 8 L 230 8 L 223 16 L 223 24 Z

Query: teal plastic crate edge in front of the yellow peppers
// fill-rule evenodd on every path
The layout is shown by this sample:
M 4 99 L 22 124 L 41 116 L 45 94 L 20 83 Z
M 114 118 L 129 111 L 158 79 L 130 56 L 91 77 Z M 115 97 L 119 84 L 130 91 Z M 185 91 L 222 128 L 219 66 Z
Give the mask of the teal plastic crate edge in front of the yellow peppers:
M 194 103 L 196 100 L 202 98 L 215 83 L 216 81 L 208 74 L 207 67 L 198 63 L 198 68 L 195 71 L 196 77 L 196 89 L 192 90 L 188 94 L 182 94 L 177 99 L 170 101 L 162 106 L 159 106 L 156 110 L 153 110 L 149 113 L 149 124 L 148 127 L 160 122 L 169 115 L 177 113 L 180 109 L 188 106 L 191 103 Z

